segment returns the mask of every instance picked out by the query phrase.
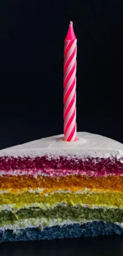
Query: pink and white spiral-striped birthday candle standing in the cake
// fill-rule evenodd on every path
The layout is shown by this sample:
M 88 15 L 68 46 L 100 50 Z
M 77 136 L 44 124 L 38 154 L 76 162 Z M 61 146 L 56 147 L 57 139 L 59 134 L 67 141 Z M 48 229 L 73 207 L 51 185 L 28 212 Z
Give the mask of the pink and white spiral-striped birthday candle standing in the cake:
M 76 141 L 76 55 L 77 39 L 70 22 L 64 45 L 63 119 L 64 141 Z

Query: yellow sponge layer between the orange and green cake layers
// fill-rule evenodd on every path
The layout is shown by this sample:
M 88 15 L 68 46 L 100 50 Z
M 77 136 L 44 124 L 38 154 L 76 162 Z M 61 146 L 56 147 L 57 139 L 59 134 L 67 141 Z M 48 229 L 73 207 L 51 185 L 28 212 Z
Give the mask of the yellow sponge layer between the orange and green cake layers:
M 70 203 L 87 204 L 87 205 L 114 205 L 117 207 L 123 206 L 123 193 L 97 193 L 97 194 L 76 194 L 76 193 L 54 193 L 49 196 L 42 196 L 38 193 L 23 193 L 23 194 L 0 194 L 0 205 L 3 204 L 16 204 L 17 207 L 23 207 L 24 204 L 30 205 L 31 203 L 49 204 L 50 207 L 54 203 Z

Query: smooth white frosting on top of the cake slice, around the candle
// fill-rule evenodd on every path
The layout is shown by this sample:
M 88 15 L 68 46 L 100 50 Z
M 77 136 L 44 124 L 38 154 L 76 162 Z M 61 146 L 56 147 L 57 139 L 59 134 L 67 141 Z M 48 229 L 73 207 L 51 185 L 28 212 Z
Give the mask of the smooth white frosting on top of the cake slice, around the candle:
M 63 134 L 0 150 L 0 156 L 77 155 L 78 157 L 123 157 L 123 144 L 101 135 L 78 132 L 78 141 L 63 141 Z

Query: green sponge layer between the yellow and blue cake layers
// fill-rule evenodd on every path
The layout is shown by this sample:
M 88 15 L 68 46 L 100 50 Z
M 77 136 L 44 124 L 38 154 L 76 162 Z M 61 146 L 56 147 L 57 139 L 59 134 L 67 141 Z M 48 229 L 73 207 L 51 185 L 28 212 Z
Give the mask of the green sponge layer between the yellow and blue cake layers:
M 40 208 L 29 208 L 20 209 L 17 211 L 1 211 L 0 212 L 0 226 L 11 224 L 15 221 L 27 220 L 30 218 L 42 219 L 45 218 L 48 221 L 52 219 L 71 220 L 80 222 L 82 219 L 85 220 L 104 220 L 115 222 L 123 222 L 123 209 L 106 209 L 106 208 L 88 208 L 78 205 L 74 207 L 72 205 L 57 205 L 54 208 L 47 210 Z M 21 221 L 22 222 L 22 221 Z

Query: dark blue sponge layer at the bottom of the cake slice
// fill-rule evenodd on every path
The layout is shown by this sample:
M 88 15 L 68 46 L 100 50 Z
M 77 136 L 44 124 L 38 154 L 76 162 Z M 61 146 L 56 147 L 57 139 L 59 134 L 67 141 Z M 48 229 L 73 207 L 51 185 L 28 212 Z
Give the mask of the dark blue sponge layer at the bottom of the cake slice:
M 0 231 L 0 242 L 7 241 L 27 241 L 27 240 L 47 240 L 56 238 L 74 238 L 100 235 L 120 235 L 123 228 L 116 224 L 103 221 L 93 221 L 82 225 L 64 225 L 46 227 L 43 230 L 38 228 L 27 228 L 13 232 L 13 230 Z

